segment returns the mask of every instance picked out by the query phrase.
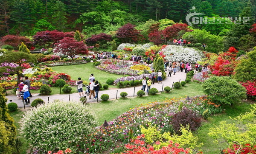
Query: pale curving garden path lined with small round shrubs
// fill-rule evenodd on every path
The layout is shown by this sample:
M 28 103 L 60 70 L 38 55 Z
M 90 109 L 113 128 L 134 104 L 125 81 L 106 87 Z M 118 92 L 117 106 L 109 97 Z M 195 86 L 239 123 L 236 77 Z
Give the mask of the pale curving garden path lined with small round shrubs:
M 168 75 L 168 71 L 166 71 L 167 75 Z M 173 82 L 177 82 L 177 81 L 185 81 L 186 79 L 186 73 L 184 72 L 176 72 L 175 75 L 173 75 L 172 73 L 172 77 L 167 77 L 162 84 L 158 84 L 157 82 L 155 82 L 155 84 L 151 85 L 151 88 L 157 88 L 158 91 L 162 91 L 162 88 L 169 86 L 172 87 L 172 83 Z M 137 96 L 137 92 L 139 90 L 141 90 L 142 86 L 139 87 L 128 87 L 128 88 L 122 88 L 122 89 L 111 89 L 111 90 L 104 90 L 104 91 L 99 91 L 99 101 L 101 101 L 100 96 L 102 94 L 108 94 L 109 95 L 109 99 L 116 99 L 116 92 L 117 92 L 117 98 L 120 98 L 120 92 L 127 92 L 128 95 L 127 97 L 133 97 L 133 96 Z M 135 92 L 134 92 L 135 90 Z M 146 90 L 145 90 L 146 91 Z M 86 95 L 87 96 L 87 95 Z M 8 98 L 8 103 L 15 102 L 17 103 L 19 108 L 23 107 L 23 102 L 21 100 L 18 100 L 16 96 L 14 95 L 9 95 L 6 96 L 6 98 Z M 36 98 L 41 98 L 43 99 L 45 102 L 52 102 L 56 99 L 58 100 L 63 100 L 63 101 L 79 101 L 79 94 L 78 93 L 73 93 L 73 94 L 58 94 L 58 95 L 35 95 L 32 98 L 30 98 L 30 102 L 32 102 L 33 100 L 35 100 Z M 96 103 L 97 100 L 93 100 L 93 96 L 92 99 L 88 99 L 89 97 L 87 96 L 87 103 Z M 25 107 L 30 107 L 29 105 L 26 105 Z

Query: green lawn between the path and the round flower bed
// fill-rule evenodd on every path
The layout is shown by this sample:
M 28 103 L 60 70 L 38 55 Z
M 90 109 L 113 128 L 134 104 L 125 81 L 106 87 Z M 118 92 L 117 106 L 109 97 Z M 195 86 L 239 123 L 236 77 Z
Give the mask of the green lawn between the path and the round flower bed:
M 73 80 L 77 80 L 77 78 L 81 78 L 83 81 L 87 81 L 90 77 L 90 74 L 94 74 L 94 77 L 96 80 L 98 80 L 101 84 L 105 84 L 105 82 L 109 78 L 113 78 L 114 80 L 116 78 L 121 78 L 123 75 L 116 75 L 116 74 L 110 74 L 106 73 L 104 71 L 98 70 L 94 67 L 93 63 L 87 63 L 87 64 L 78 64 L 78 65 L 68 65 L 68 66 L 55 66 L 51 67 L 52 70 L 56 72 L 62 72 L 67 73 L 71 76 Z M 114 86 L 110 86 L 114 87 Z

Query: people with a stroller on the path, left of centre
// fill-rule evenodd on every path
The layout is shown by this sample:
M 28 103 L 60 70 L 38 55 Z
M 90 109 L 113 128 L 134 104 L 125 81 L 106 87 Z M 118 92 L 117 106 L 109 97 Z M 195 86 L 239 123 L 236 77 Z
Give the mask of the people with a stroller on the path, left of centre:
M 89 77 L 90 83 L 89 83 L 89 91 L 86 91 L 85 93 L 90 93 L 89 95 L 89 99 L 91 99 L 91 95 L 93 95 L 93 99 L 96 100 L 98 98 L 99 95 L 99 81 L 95 80 L 95 77 L 93 76 L 93 74 L 90 75 Z M 84 97 L 84 91 L 83 91 L 83 81 L 81 80 L 81 78 L 78 78 L 78 81 L 76 81 L 76 85 L 77 85 L 77 89 L 79 92 L 79 97 Z M 96 95 L 95 95 L 96 93 Z

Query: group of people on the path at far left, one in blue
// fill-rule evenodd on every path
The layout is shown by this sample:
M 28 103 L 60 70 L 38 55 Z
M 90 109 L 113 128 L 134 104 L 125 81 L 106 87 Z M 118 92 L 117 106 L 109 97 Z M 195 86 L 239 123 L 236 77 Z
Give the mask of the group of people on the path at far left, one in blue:
M 31 85 L 31 82 L 29 81 L 29 78 L 25 76 L 25 81 L 21 79 L 20 84 L 18 84 L 18 88 L 16 90 L 17 98 L 25 101 L 25 105 L 30 104 L 29 98 L 32 97 L 31 92 L 29 90 L 30 85 Z

